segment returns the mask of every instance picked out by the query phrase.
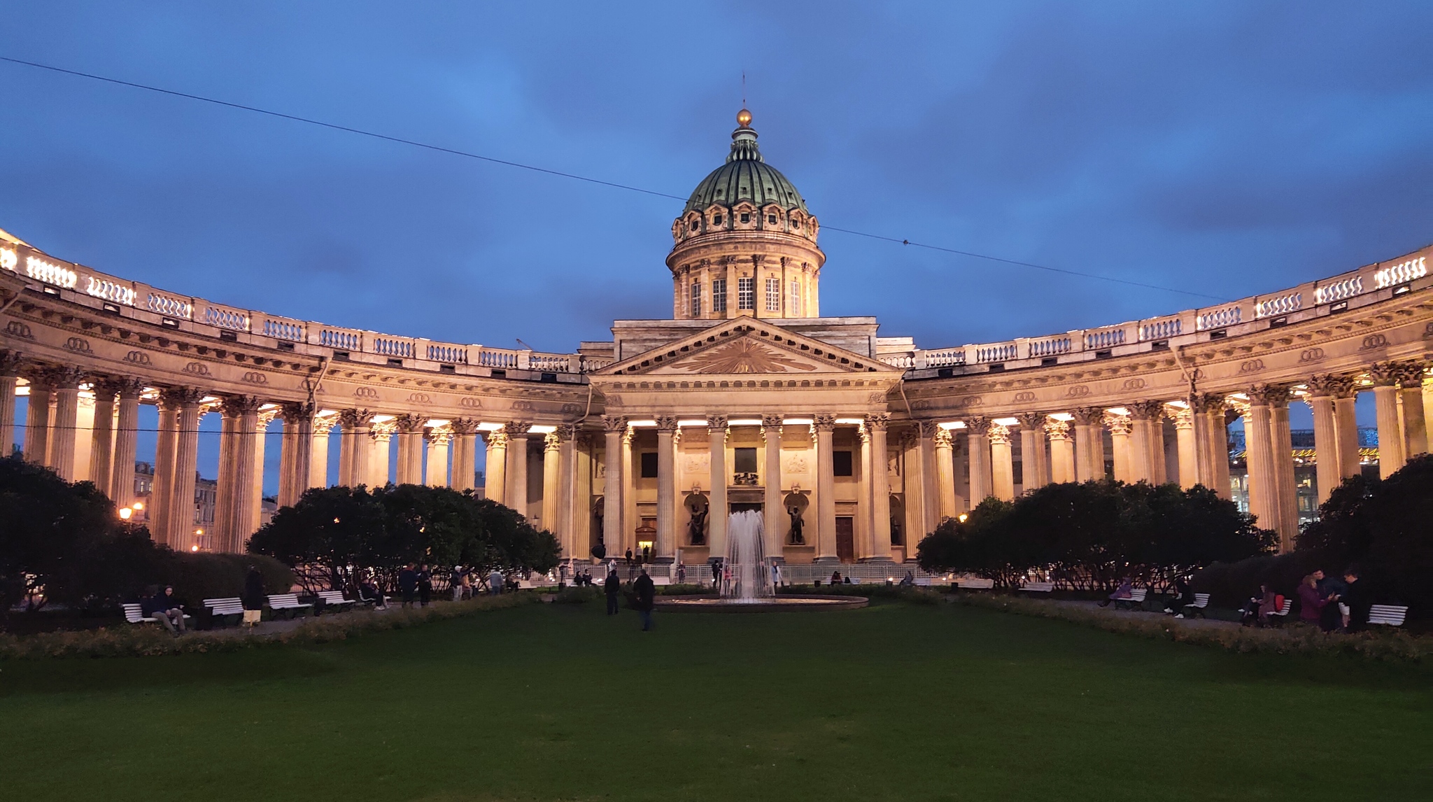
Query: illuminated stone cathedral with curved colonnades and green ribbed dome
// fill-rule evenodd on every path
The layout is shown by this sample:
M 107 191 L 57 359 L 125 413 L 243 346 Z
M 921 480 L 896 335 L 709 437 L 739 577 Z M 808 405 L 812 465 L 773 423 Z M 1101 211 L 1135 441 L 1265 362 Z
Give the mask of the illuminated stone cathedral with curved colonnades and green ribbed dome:
M 332 438 L 344 484 L 471 488 L 483 448 L 486 494 L 566 554 L 646 547 L 659 566 L 721 554 L 716 511 L 762 510 L 772 556 L 792 564 L 881 564 L 910 560 L 924 533 L 986 496 L 1049 481 L 1228 496 L 1232 415 L 1247 428 L 1250 510 L 1287 547 L 1291 402 L 1313 408 L 1318 497 L 1360 470 L 1358 392 L 1374 395 L 1383 474 L 1427 451 L 1433 248 L 1175 315 L 923 349 L 878 337 L 874 318 L 820 317 L 817 221 L 757 156 L 748 117 L 674 222 L 672 319 L 616 321 L 612 341 L 572 354 L 241 309 L 6 235 L 0 443 L 29 395 L 26 458 L 129 504 L 138 408 L 155 404 L 150 530 L 216 550 L 242 549 L 261 521 L 269 427 L 282 430 L 279 504 L 327 481 Z M 739 279 L 752 281 L 749 304 Z M 203 415 L 222 418 L 222 458 L 214 526 L 196 543 Z

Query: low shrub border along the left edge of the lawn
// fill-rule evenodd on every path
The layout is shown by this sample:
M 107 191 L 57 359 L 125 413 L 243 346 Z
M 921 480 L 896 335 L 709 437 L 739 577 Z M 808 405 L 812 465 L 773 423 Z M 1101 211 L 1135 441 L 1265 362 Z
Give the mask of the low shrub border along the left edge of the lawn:
M 315 616 L 297 627 L 275 634 L 235 630 L 205 630 L 175 637 L 158 626 L 119 624 L 79 632 L 44 632 L 27 636 L 0 634 L 0 660 L 40 660 L 46 657 L 149 657 L 158 654 L 193 654 L 239 652 L 284 643 L 328 643 L 368 632 L 407 629 L 489 610 L 506 610 L 540 602 L 537 593 L 483 596 L 466 602 L 438 602 L 427 607 L 398 607 L 383 613 L 373 610 Z

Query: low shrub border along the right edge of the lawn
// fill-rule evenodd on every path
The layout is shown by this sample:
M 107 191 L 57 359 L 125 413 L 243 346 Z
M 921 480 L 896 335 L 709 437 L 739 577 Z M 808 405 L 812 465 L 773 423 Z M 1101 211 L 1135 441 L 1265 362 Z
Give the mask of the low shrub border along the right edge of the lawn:
M 1288 629 L 1202 627 L 1187 624 L 1169 616 L 1151 616 L 1149 619 L 1109 616 L 1095 610 L 1017 596 L 952 593 L 946 599 L 966 607 L 1058 619 L 1116 634 L 1192 643 L 1238 653 L 1356 656 L 1404 663 L 1427 663 L 1429 657 L 1433 657 L 1433 639 L 1416 637 L 1401 630 L 1343 634 L 1323 633 L 1314 627 L 1303 626 Z

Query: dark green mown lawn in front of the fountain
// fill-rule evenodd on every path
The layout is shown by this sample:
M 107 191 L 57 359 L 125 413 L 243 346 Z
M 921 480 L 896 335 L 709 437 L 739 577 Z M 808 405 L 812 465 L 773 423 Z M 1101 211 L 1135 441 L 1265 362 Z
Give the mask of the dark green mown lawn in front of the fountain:
M 969 607 L 0 663 L 0 798 L 1427 799 L 1427 669 Z

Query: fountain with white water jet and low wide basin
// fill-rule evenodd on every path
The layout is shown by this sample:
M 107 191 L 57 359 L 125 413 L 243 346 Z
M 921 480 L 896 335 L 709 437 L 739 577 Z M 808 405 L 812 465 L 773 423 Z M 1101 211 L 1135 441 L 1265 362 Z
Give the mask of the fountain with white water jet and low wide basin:
M 864 607 L 864 596 L 810 596 L 777 593 L 771 581 L 761 513 L 732 513 L 727 523 L 727 556 L 716 596 L 658 596 L 662 610 L 758 613 L 765 610 L 850 610 Z

